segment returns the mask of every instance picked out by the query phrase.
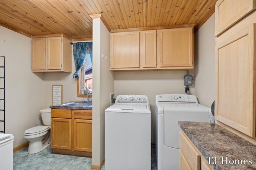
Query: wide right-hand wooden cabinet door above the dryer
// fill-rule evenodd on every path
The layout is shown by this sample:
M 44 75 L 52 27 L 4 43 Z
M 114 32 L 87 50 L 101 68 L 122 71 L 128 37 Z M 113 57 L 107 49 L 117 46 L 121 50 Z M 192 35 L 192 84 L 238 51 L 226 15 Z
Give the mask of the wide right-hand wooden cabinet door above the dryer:
M 194 60 L 193 27 L 158 30 L 160 69 L 192 69 Z

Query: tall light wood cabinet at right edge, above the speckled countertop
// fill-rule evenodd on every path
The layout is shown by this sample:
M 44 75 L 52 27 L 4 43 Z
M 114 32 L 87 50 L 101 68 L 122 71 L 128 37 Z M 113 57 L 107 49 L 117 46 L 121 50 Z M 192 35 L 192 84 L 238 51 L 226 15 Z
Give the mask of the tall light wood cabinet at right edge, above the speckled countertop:
M 228 0 L 216 3 L 216 25 L 226 16 L 228 10 L 220 8 L 221 4 L 232 4 Z M 237 1 L 241 3 L 242 1 Z M 252 0 L 243 1 L 252 2 Z M 249 4 L 250 4 L 249 3 Z M 233 6 L 230 4 L 230 8 Z M 249 5 L 247 4 L 247 5 Z M 253 3 L 256 4 L 256 1 Z M 237 4 L 235 9 L 237 8 Z M 252 9 L 252 8 L 250 8 Z M 250 12 L 250 10 L 248 10 Z M 237 11 L 236 16 L 241 16 Z M 236 18 L 236 17 L 234 17 Z M 256 11 L 244 18 L 232 20 L 222 27 L 221 34 L 216 32 L 216 101 L 215 119 L 255 138 L 256 133 Z M 224 19 L 223 19 L 224 20 Z M 235 24 L 234 24 L 235 23 Z M 223 23 L 222 23 L 223 24 Z M 233 25 L 234 24 L 234 25 Z M 225 24 L 224 24 L 225 25 Z M 229 25 L 233 25 L 229 27 Z M 228 29 L 227 29 L 228 28 Z

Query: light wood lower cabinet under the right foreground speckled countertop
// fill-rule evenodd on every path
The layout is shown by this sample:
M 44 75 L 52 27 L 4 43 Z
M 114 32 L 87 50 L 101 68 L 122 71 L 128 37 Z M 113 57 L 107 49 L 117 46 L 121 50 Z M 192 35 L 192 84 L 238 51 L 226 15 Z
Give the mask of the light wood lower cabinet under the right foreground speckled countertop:
M 214 170 L 187 135 L 180 131 L 180 170 Z

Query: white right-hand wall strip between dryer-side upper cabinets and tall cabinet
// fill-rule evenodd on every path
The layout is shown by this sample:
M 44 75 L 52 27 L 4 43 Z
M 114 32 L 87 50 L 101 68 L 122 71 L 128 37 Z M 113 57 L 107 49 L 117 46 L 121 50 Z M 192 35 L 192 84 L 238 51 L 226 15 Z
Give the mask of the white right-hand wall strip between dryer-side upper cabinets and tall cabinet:
M 215 37 L 212 16 L 195 33 L 195 95 L 198 102 L 211 107 L 215 100 Z

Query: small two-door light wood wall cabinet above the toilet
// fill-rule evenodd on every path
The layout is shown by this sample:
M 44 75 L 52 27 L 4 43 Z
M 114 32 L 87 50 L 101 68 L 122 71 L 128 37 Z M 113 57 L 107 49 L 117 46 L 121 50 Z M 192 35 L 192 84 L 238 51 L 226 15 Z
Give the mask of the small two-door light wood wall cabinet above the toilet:
M 32 72 L 71 72 L 70 42 L 63 36 L 32 36 Z

